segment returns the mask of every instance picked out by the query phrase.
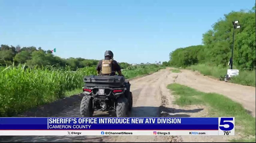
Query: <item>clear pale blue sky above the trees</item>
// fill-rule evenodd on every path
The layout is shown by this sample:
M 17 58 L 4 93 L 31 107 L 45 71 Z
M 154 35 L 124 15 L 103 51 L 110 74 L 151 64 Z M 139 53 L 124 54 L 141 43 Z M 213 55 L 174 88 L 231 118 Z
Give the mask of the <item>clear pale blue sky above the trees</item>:
M 168 61 L 177 48 L 201 44 L 202 34 L 254 0 L 0 0 L 0 44 L 57 49 L 57 56 L 118 62 Z

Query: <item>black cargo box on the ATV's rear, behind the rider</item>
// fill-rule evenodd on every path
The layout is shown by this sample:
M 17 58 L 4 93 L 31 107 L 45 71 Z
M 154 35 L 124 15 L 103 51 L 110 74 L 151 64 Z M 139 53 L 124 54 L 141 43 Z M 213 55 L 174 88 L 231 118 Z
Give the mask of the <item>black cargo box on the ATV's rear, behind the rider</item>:
M 87 87 L 123 87 L 125 78 L 122 76 L 85 76 L 84 77 L 85 86 Z

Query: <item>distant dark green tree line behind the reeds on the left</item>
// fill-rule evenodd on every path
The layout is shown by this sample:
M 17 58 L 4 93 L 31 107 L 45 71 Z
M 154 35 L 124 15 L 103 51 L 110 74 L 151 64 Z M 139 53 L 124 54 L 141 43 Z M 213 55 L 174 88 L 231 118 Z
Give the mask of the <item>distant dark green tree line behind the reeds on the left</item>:
M 91 60 L 84 58 L 61 58 L 54 56 L 51 50 L 43 50 L 41 47 L 38 49 L 34 46 L 22 47 L 20 46 L 8 46 L 1 45 L 0 47 L 0 66 L 7 65 L 18 65 L 19 63 L 26 63 L 27 66 L 70 66 L 73 70 L 77 68 L 83 68 L 86 66 L 96 66 L 99 60 Z M 130 66 L 129 63 L 121 62 L 119 63 L 122 69 Z

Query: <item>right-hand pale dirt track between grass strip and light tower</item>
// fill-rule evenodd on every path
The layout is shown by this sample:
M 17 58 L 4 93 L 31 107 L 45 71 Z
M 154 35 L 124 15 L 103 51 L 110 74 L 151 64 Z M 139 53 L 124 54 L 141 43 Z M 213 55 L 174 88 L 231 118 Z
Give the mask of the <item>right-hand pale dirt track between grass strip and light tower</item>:
M 215 92 L 229 97 L 230 99 L 243 105 L 253 116 L 255 116 L 256 100 L 255 87 L 242 86 L 234 83 L 226 83 L 214 80 L 210 77 L 198 74 L 189 70 L 181 70 L 175 79 L 176 83 L 195 88 L 202 92 Z

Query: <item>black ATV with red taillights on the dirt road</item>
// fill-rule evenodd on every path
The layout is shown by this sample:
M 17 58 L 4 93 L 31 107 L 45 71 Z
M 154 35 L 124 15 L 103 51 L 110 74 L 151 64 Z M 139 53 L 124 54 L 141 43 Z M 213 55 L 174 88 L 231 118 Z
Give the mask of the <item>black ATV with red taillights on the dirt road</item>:
M 80 105 L 82 117 L 92 117 L 94 110 L 115 111 L 117 117 L 127 117 L 132 110 L 131 84 L 123 76 L 86 76 L 84 97 Z

